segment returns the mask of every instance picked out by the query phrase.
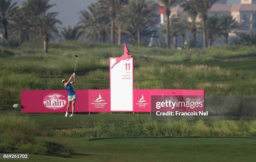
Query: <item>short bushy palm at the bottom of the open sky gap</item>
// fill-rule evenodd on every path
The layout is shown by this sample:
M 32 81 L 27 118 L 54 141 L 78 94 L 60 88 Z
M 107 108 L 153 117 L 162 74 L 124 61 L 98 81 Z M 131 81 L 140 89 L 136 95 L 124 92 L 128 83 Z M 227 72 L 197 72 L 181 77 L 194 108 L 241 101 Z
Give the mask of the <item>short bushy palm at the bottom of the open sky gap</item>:
M 72 28 L 71 26 L 68 26 L 67 28 L 63 27 L 63 29 L 61 30 L 61 34 L 66 40 L 78 40 L 78 38 L 82 34 L 82 32 L 79 31 L 79 28 L 79 26 L 74 26 L 74 28 Z

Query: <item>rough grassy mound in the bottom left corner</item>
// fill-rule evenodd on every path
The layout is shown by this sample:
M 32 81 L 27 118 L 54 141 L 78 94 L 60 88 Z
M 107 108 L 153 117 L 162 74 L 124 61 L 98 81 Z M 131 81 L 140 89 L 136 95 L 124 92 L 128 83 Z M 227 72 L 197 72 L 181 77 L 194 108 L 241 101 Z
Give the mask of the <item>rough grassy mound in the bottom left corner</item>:
M 68 157 L 72 150 L 57 142 L 44 141 L 33 120 L 5 115 L 0 118 L 0 152 L 31 153 Z

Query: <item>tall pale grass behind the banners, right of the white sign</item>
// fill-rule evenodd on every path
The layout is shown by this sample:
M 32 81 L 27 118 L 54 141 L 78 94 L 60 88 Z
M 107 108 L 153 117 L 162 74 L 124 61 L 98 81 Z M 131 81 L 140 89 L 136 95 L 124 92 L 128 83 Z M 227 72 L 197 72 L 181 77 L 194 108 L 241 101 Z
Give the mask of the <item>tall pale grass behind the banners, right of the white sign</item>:
M 233 78 L 230 70 L 207 65 L 172 65 L 139 67 L 134 72 L 134 78 L 148 80 L 229 80 Z

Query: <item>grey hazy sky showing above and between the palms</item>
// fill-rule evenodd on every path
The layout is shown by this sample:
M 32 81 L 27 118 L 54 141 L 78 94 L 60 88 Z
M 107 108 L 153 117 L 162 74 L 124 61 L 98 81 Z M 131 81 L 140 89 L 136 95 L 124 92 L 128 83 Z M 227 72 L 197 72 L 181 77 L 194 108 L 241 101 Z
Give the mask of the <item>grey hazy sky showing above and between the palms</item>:
M 26 0 L 13 0 L 21 5 Z M 228 3 L 239 3 L 241 0 L 228 0 Z M 61 20 L 62 26 L 74 26 L 79 22 L 79 11 L 87 9 L 91 2 L 97 0 L 50 0 L 51 4 L 56 4 L 50 11 L 59 12 L 57 18 Z

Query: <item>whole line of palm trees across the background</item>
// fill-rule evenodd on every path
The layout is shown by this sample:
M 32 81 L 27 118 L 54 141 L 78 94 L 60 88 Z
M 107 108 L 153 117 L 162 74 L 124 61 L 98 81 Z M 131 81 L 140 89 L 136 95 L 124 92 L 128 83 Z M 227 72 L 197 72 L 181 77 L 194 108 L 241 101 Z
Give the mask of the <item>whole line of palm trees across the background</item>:
M 203 47 L 211 47 L 215 37 L 223 37 L 228 44 L 228 33 L 241 28 L 232 15 L 209 16 L 209 10 L 218 0 L 98 0 L 91 3 L 87 10 L 79 11 L 79 22 L 74 27 L 57 27 L 61 21 L 57 12 L 49 12 L 56 4 L 49 0 L 26 0 L 21 6 L 13 0 L 0 0 L 0 28 L 3 40 L 13 37 L 20 42 L 31 40 L 40 35 L 44 39 L 44 52 L 48 52 L 51 37 L 61 34 L 66 40 L 83 37 L 93 42 L 110 41 L 120 45 L 123 39 L 138 45 L 150 37 L 165 35 L 166 47 L 177 48 L 177 37 L 192 34 L 192 44 L 197 45 L 197 33 L 203 36 Z M 180 5 L 187 17 L 171 15 L 171 7 Z M 165 27 L 159 25 L 158 7 L 165 9 Z M 201 20 L 198 21 L 198 18 Z M 255 37 L 254 34 L 252 34 Z M 246 36 L 246 35 L 244 35 Z

